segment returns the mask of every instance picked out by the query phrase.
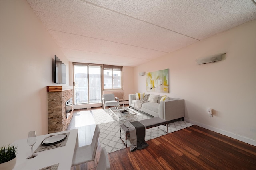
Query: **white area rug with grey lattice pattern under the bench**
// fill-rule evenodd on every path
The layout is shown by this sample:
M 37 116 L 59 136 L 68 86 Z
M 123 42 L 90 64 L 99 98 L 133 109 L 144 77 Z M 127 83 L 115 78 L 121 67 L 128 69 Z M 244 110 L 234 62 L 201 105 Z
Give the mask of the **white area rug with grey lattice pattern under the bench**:
M 138 113 L 138 121 L 151 118 L 149 115 L 142 112 L 136 110 L 134 111 Z M 94 117 L 95 124 L 99 125 L 100 127 L 99 140 L 101 147 L 105 147 L 108 153 L 125 148 L 124 144 L 120 140 L 120 127 L 118 121 L 113 120 L 111 114 L 109 114 L 109 109 L 106 109 L 106 111 L 103 109 L 96 109 L 92 110 L 91 113 Z M 172 133 L 192 125 L 193 124 L 186 121 L 175 121 L 168 124 L 168 132 Z M 159 128 L 166 130 L 166 126 L 164 125 L 159 126 Z M 157 127 L 146 129 L 145 141 L 160 137 L 162 135 L 166 135 L 166 133 L 160 129 L 158 130 Z M 122 138 L 124 139 L 124 133 L 122 133 Z M 129 140 L 127 140 L 127 147 L 128 146 L 130 146 Z

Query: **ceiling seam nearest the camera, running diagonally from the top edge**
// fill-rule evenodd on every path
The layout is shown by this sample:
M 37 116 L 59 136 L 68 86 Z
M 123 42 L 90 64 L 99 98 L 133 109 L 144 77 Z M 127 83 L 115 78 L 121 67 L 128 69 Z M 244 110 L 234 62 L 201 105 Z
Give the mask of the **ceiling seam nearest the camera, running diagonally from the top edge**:
M 168 31 L 172 31 L 172 32 L 177 33 L 177 34 L 180 34 L 180 35 L 183 35 L 183 36 L 192 38 L 192 39 L 196 39 L 196 38 L 194 38 L 194 37 L 190 37 L 189 35 L 185 35 L 185 34 L 182 34 L 182 33 L 176 32 L 176 31 L 173 31 L 173 30 L 171 30 L 171 29 L 162 27 L 162 26 L 160 26 L 160 25 L 156 25 L 156 24 L 154 24 L 154 23 L 150 23 L 150 22 L 148 22 L 148 21 L 144 21 L 144 20 L 141 20 L 141 19 L 139 19 L 139 18 L 136 18 L 136 17 L 133 17 L 133 16 L 129 16 L 129 15 L 127 15 L 127 14 L 124 14 L 124 13 L 121 13 L 121 12 L 118 12 L 118 11 L 115 11 L 115 10 L 112 10 L 112 9 L 109 9 L 109 8 L 106 8 L 106 7 L 104 7 L 104 6 L 100 6 L 100 5 L 94 4 L 94 3 L 92 3 L 92 2 L 88 2 L 88 1 L 86 1 L 86 0 L 80 0 L 80 1 L 85 2 L 85 3 L 88 3 L 88 4 L 91 4 L 91 5 L 93 5 L 93 6 L 97 6 L 97 7 L 99 7 L 99 8 L 103 8 L 103 9 L 105 9 L 105 10 L 109 10 L 109 11 L 111 11 L 111 12 L 115 12 L 115 13 L 120 14 L 120 15 L 123 15 L 123 16 L 127 16 L 127 17 L 129 17 L 129 18 L 134 19 L 134 20 L 142 21 L 142 22 L 148 23 L 148 24 L 150 24 L 150 25 L 154 25 L 154 26 L 156 26 L 156 27 L 160 27 L 160 28 L 162 28 L 162 29 L 166 29 L 166 30 L 168 30 Z M 196 40 L 200 41 L 200 39 L 196 39 Z

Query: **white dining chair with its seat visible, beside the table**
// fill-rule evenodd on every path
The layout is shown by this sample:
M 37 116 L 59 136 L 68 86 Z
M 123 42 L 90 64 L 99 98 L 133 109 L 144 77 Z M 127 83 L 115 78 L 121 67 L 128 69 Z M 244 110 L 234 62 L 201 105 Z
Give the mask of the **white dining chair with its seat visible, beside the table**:
M 94 135 L 92 137 L 92 143 L 90 145 L 77 147 L 74 150 L 72 166 L 76 166 L 76 170 L 80 169 L 80 164 L 94 161 L 99 135 L 100 135 L 100 128 L 98 125 L 96 125 Z M 94 167 L 95 167 L 95 162 L 94 162 Z

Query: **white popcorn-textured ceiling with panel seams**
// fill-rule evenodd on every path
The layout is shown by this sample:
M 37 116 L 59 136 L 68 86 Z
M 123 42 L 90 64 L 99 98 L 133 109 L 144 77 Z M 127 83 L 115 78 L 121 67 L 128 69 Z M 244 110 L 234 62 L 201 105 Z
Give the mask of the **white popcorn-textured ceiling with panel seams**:
M 256 19 L 252 0 L 28 0 L 28 4 L 69 61 L 119 66 L 138 66 Z

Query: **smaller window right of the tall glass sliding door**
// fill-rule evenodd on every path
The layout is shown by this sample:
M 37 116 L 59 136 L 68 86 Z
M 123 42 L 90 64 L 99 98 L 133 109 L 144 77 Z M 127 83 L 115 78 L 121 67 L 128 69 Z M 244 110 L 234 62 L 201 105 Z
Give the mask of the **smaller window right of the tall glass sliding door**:
M 104 90 L 122 89 L 122 66 L 103 66 Z

